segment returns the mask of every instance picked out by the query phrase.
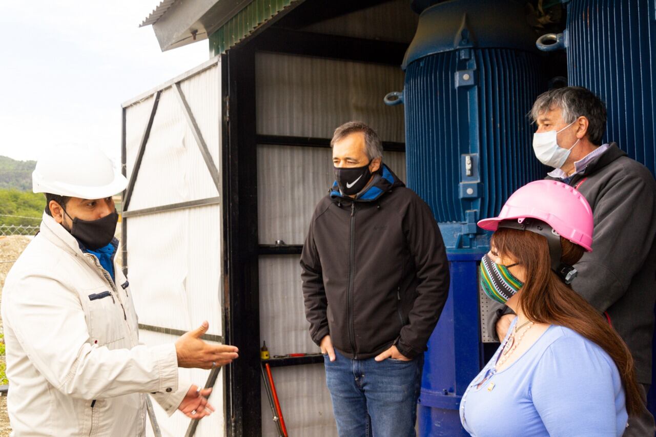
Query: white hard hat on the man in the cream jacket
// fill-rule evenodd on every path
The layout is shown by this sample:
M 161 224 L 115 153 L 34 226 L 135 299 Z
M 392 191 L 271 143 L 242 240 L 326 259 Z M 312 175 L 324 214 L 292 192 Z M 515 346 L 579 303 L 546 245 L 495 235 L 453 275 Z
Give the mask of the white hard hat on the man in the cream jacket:
M 102 199 L 117 194 L 127 179 L 98 148 L 66 144 L 49 148 L 37 160 L 32 191 L 82 199 Z

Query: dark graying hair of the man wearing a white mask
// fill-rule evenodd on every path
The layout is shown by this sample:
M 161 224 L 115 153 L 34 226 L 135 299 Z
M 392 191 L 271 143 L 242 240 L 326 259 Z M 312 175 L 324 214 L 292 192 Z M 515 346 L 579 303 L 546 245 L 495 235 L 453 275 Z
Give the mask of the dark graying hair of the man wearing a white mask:
M 540 94 L 529 116 L 535 123 L 538 117 L 554 108 L 560 108 L 565 123 L 573 123 L 578 117 L 588 119 L 588 140 L 600 146 L 606 129 L 606 107 L 592 91 L 583 87 L 556 88 Z

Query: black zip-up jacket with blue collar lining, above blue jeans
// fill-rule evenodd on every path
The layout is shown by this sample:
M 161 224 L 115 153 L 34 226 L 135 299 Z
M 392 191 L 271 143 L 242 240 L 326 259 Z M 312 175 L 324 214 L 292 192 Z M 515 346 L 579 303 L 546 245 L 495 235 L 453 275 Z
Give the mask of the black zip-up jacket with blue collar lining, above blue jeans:
M 392 344 L 426 350 L 449 291 L 449 264 L 430 208 L 383 166 L 354 201 L 337 185 L 319 201 L 303 246 L 303 297 L 312 340 L 350 358 Z

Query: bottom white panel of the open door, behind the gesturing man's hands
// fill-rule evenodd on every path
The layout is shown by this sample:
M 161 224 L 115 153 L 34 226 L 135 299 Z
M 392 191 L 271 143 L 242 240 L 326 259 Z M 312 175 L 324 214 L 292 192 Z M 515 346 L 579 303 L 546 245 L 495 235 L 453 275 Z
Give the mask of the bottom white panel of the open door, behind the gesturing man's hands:
M 162 334 L 152 331 L 139 331 L 139 339 L 144 343 L 155 346 L 158 344 L 174 343 L 177 337 L 169 334 Z M 209 370 L 203 369 L 178 369 L 178 379 L 181 384 L 188 383 L 189 385 L 195 384 L 197 386 L 205 386 L 205 382 L 209 377 Z M 157 417 L 157 425 L 161 430 L 162 437 L 180 437 L 184 436 L 187 428 L 189 427 L 190 419 L 182 414 L 180 411 L 173 413 L 171 417 L 164 411 L 162 407 L 155 402 L 154 398 L 150 398 L 153 409 L 155 410 L 155 417 Z M 217 437 L 225 435 L 225 406 L 224 406 L 224 369 L 221 369 L 216 383 L 209 396 L 209 403 L 216 409 L 215 413 L 203 417 L 198 423 L 196 428 L 195 437 Z M 150 420 L 146 417 L 146 436 L 154 436 L 153 428 L 150 425 Z

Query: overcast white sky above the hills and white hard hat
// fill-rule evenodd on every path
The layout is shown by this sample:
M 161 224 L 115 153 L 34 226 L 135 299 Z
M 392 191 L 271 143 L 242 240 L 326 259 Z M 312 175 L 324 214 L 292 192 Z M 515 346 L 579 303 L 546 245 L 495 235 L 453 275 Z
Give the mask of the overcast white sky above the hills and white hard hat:
M 161 52 L 138 25 L 159 0 L 0 1 L 0 156 L 66 142 L 121 156 L 121 103 L 209 58 L 207 40 Z

